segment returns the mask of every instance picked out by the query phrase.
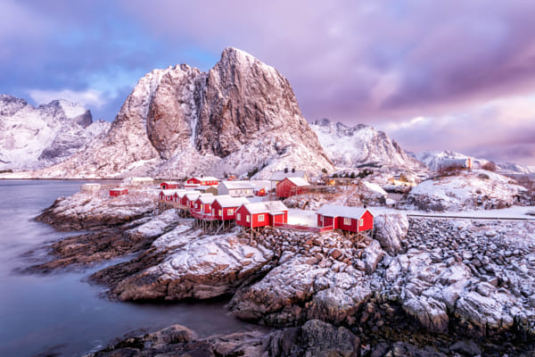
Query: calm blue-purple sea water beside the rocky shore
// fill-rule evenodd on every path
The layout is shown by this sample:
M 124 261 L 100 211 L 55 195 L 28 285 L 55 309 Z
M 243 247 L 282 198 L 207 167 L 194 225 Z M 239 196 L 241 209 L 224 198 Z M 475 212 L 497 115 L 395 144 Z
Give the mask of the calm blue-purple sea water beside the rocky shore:
M 23 253 L 73 234 L 32 219 L 84 182 L 89 181 L 0 180 L 0 356 L 78 356 L 115 337 L 177 323 L 201 336 L 253 328 L 228 316 L 223 303 L 107 301 L 99 297 L 103 286 L 85 282 L 104 264 L 50 275 L 14 272 L 32 263 Z

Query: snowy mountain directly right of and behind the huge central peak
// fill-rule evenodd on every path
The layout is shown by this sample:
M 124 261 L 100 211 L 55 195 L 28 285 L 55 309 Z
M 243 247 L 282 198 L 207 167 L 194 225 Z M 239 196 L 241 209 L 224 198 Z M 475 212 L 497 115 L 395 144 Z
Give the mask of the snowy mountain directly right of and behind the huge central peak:
M 348 127 L 328 119 L 316 120 L 311 125 L 335 166 L 356 168 L 363 164 L 379 164 L 407 169 L 423 169 L 418 162 L 391 140 L 383 131 L 358 124 Z

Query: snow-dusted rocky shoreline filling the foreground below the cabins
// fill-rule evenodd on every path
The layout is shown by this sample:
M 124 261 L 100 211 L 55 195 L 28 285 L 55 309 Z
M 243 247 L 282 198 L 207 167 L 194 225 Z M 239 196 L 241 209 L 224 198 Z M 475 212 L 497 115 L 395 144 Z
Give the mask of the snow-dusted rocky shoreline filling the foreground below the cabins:
M 339 345 L 331 355 L 535 355 L 532 222 L 407 219 L 399 213 L 376 217 L 373 238 L 275 228 L 255 237 L 235 228 L 213 236 L 174 210 L 156 215 L 150 206 L 125 203 L 118 213 L 77 195 L 56 201 L 39 219 L 95 232 L 55 243 L 55 259 L 30 271 L 138 252 L 91 279 L 121 301 L 231 296 L 227 308 L 238 319 L 280 328 L 268 336 L 211 340 L 186 334 L 177 343 L 149 334 L 95 356 L 123 355 L 113 354 L 122 348 L 135 350 L 124 355 L 194 355 L 193 345 L 206 347 L 212 353 L 206 355 L 325 355 L 340 334 L 350 334 L 343 341 L 353 347 Z M 316 332 L 306 332 L 309 324 Z M 319 325 L 321 338 L 308 337 Z M 221 350 L 220 341 L 234 341 L 234 349 Z M 151 350 L 151 344 L 160 347 Z

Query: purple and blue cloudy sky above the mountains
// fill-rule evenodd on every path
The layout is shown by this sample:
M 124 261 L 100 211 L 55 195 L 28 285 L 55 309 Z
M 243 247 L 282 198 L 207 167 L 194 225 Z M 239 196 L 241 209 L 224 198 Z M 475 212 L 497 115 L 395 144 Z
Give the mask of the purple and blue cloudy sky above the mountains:
M 0 93 L 113 120 L 138 79 L 227 46 L 286 77 L 309 120 L 406 150 L 535 165 L 532 0 L 0 0 Z

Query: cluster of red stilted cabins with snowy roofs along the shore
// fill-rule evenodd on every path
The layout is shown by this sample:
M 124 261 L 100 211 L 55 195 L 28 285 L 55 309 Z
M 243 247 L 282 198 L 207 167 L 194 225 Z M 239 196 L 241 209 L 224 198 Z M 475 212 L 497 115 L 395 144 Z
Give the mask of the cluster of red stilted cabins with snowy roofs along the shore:
M 158 181 L 129 178 L 123 186 L 109 188 L 111 199 L 128 195 L 128 187 L 152 187 Z M 127 187 L 128 185 L 128 187 Z M 157 212 L 177 209 L 181 217 L 193 219 L 193 227 L 207 234 L 218 234 L 237 226 L 254 237 L 258 228 L 272 227 L 323 233 L 338 229 L 346 237 L 371 238 L 374 214 L 366 206 L 324 204 L 315 212 L 289 209 L 282 200 L 293 195 L 328 190 L 330 185 L 311 185 L 306 171 L 279 170 L 269 180 L 220 180 L 193 177 L 184 181 L 161 180 L 157 188 Z M 100 184 L 89 183 L 82 191 L 98 191 Z M 132 188 L 130 188 L 132 189 Z M 152 191 L 154 192 L 154 191 Z

